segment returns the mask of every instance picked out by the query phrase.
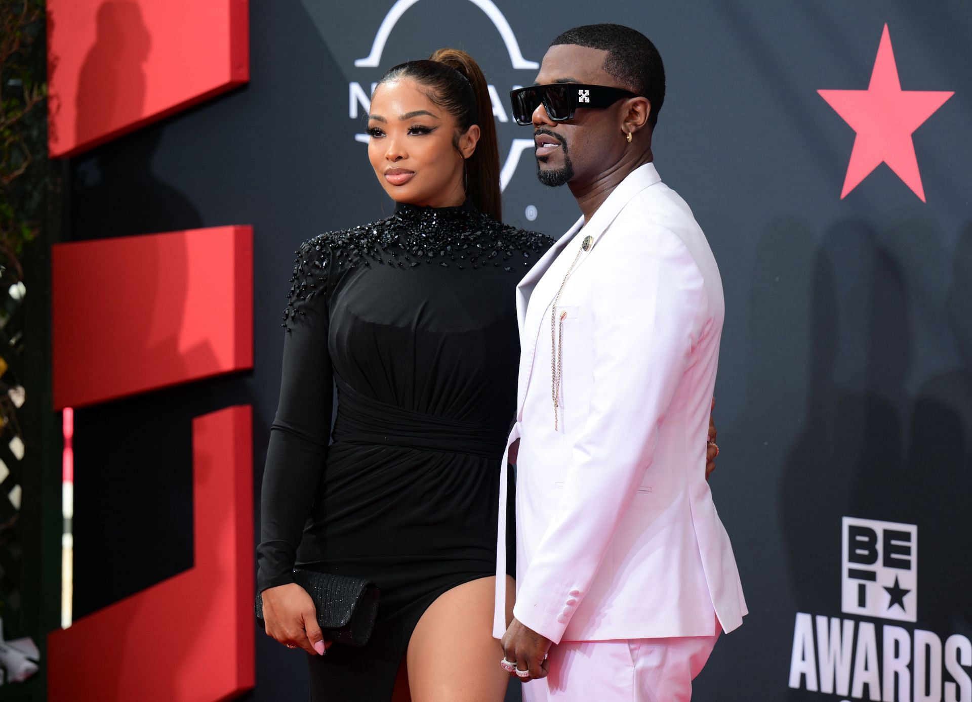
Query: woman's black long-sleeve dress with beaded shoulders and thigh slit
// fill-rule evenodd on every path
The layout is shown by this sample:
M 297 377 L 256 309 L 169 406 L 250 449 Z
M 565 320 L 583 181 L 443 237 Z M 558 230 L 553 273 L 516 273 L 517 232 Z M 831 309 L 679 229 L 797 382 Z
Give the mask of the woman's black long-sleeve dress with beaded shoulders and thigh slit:
M 551 243 L 469 203 L 399 205 L 297 251 L 259 589 L 292 582 L 295 563 L 381 589 L 367 646 L 308 656 L 312 699 L 390 699 L 426 608 L 494 574 L 516 403 L 514 290 Z

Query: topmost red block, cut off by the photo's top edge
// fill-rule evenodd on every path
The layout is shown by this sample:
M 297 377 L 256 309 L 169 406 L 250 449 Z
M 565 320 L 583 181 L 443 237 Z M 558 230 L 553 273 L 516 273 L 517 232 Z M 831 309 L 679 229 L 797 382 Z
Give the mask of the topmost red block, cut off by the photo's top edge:
M 250 80 L 248 0 L 48 0 L 49 149 L 72 156 Z

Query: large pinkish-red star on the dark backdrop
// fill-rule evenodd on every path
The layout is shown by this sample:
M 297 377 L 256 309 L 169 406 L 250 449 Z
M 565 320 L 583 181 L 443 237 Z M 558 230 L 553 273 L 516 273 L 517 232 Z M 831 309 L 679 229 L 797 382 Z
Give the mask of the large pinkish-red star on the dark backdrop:
M 843 200 L 871 172 L 886 163 L 924 202 L 924 188 L 912 134 L 955 92 L 902 90 L 891 37 L 881 35 L 871 83 L 866 90 L 817 90 L 857 136 L 844 179 Z

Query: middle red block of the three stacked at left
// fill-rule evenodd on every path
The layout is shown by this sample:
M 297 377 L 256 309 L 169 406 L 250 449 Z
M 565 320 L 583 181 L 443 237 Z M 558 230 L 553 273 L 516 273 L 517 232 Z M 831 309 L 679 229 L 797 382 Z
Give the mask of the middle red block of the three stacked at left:
M 55 409 L 253 367 L 253 229 L 53 247 Z

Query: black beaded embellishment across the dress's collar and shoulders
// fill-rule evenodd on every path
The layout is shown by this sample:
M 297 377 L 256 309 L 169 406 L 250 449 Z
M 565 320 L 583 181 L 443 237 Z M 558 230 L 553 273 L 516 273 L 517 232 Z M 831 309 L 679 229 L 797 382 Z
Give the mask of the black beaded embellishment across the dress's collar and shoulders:
M 290 330 L 290 321 L 302 314 L 300 305 L 332 288 L 332 271 L 340 277 L 359 263 L 370 268 L 370 261 L 392 267 L 397 263 L 404 270 L 434 262 L 459 270 L 499 268 L 501 260 L 512 263 L 518 252 L 539 257 L 552 244 L 545 234 L 508 226 L 467 208 L 399 206 L 391 217 L 304 242 L 296 251 L 283 325 Z M 468 266 L 441 260 L 455 261 L 457 253 Z M 488 265 L 491 260 L 493 266 Z M 510 264 L 503 269 L 516 270 Z

